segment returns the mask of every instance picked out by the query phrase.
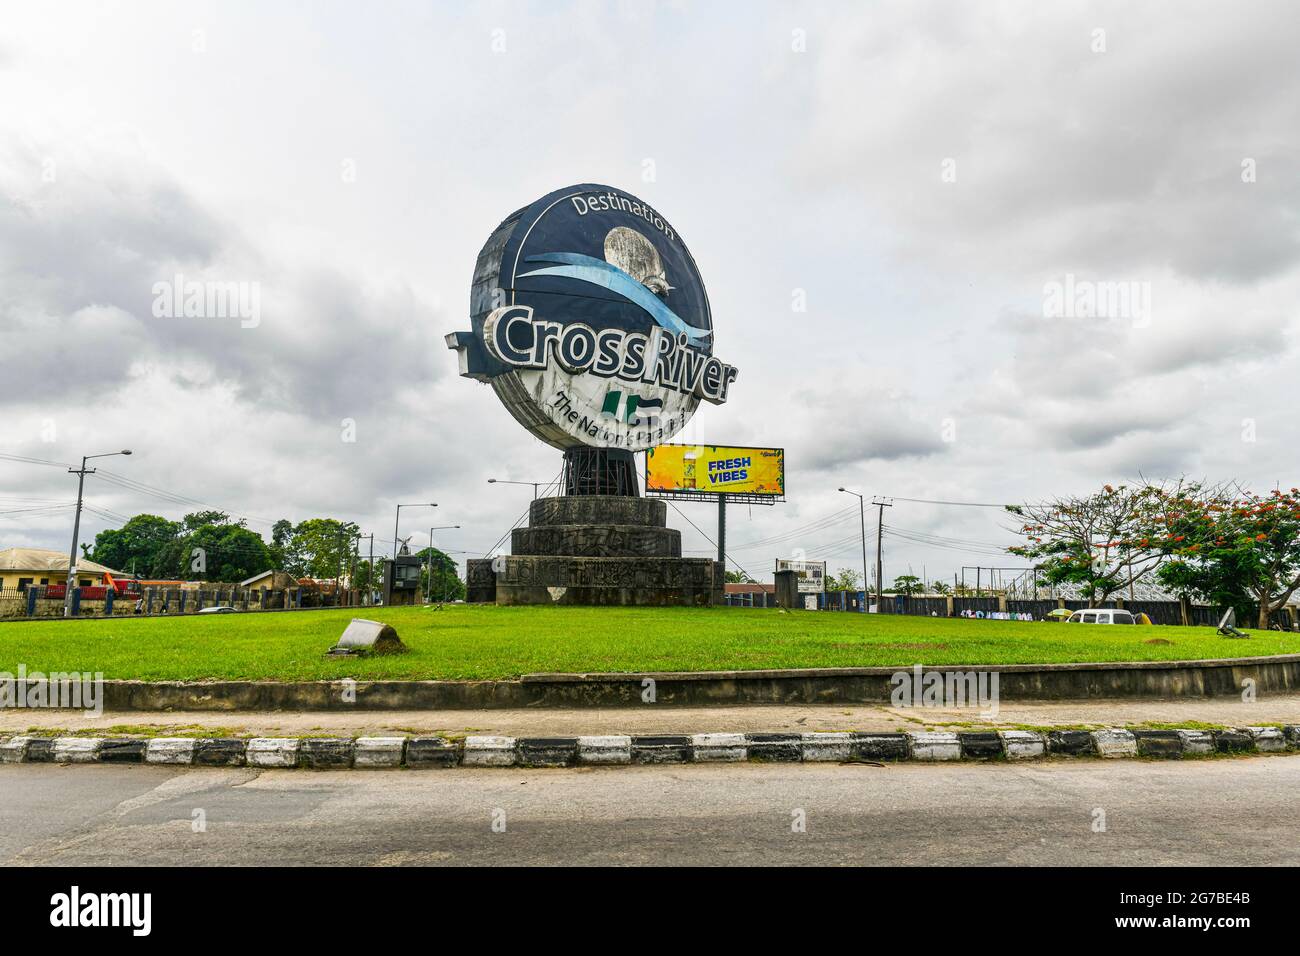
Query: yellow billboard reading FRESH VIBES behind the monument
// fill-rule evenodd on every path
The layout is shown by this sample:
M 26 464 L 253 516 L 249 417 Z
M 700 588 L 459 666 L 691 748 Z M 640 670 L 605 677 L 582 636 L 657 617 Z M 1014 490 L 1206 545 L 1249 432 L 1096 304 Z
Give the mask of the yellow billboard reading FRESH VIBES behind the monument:
M 734 445 L 655 445 L 646 450 L 646 494 L 785 496 L 785 450 Z

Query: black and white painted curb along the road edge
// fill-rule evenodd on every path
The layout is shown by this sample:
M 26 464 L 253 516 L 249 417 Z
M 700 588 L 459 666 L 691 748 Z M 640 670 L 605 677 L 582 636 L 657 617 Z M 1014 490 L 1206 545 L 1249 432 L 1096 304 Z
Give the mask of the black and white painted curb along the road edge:
M 1300 750 L 1300 726 L 1242 730 L 692 734 L 582 737 L 38 737 L 0 739 L 0 763 L 164 763 L 203 767 L 564 767 L 1200 757 Z

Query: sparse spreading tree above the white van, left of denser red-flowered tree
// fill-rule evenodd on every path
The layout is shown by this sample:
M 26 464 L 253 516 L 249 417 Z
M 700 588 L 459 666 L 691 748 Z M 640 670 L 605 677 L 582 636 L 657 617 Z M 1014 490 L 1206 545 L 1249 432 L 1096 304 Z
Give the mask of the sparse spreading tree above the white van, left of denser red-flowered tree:
M 1078 584 L 1088 606 L 1141 580 L 1156 570 L 1162 555 L 1143 538 L 1162 520 L 1165 502 L 1174 489 L 1143 484 L 1105 485 L 1087 497 L 1054 498 L 1041 505 L 1008 505 L 1023 519 L 1020 533 L 1027 544 L 1008 548 L 1011 554 L 1036 563 L 1050 584 Z

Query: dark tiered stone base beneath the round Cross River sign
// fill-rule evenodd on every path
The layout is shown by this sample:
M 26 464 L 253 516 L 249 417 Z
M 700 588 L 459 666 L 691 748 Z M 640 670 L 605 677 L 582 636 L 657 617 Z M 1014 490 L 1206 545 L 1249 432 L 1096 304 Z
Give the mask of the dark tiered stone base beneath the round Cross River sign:
M 468 562 L 467 597 L 498 605 L 722 604 L 722 566 L 682 558 L 681 532 L 667 519 L 667 505 L 655 498 L 540 498 L 528 527 L 512 533 L 514 554 Z

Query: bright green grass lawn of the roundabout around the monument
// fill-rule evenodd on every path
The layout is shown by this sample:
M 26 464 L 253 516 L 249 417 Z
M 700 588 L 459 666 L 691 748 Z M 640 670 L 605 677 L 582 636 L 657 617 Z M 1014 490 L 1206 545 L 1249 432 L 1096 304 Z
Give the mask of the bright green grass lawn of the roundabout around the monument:
M 352 610 L 0 624 L 0 671 L 101 671 L 107 679 L 494 679 L 534 671 L 759 670 L 1256 657 L 1300 635 L 748 607 L 355 609 L 411 649 L 332 659 Z M 1152 643 L 1156 641 L 1156 643 Z

